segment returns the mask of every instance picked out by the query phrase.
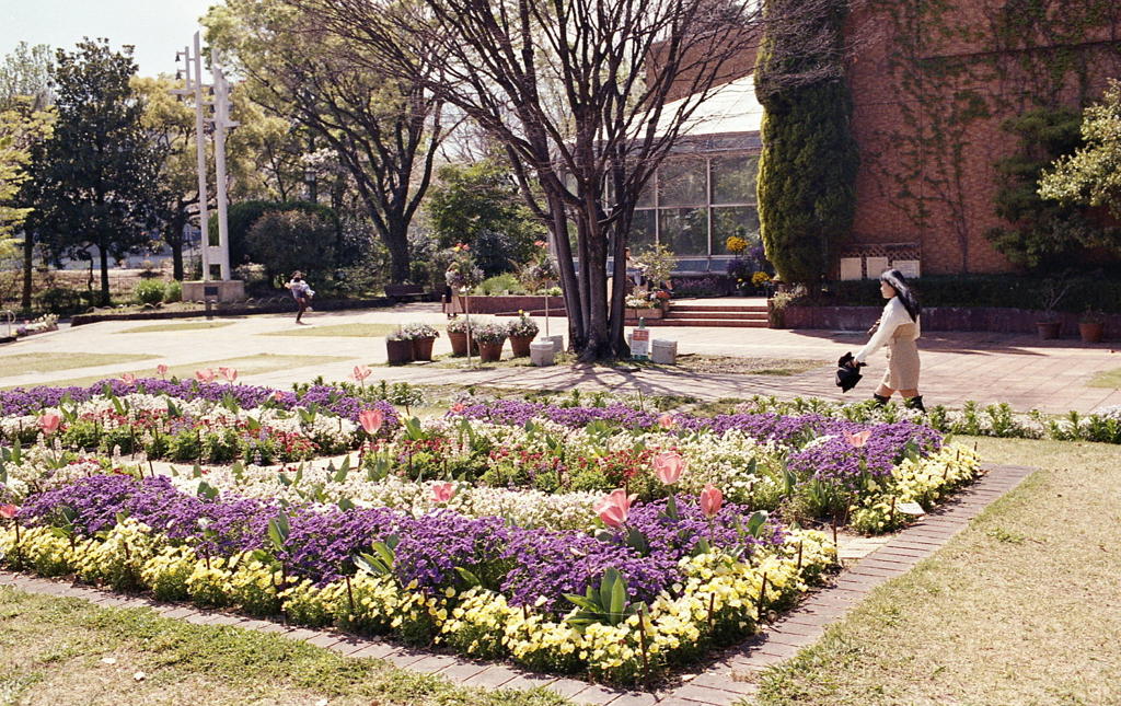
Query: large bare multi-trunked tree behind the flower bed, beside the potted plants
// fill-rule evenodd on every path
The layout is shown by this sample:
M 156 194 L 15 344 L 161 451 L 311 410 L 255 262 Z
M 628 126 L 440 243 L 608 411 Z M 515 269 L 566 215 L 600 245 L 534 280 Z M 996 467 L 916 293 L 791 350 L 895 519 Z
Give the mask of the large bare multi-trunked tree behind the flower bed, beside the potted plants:
M 697 105 L 730 77 L 729 61 L 754 37 L 754 6 L 287 1 L 399 75 L 416 75 L 424 63 L 438 68 L 425 74 L 425 87 L 504 147 L 522 195 L 550 231 L 573 349 L 585 361 L 626 354 L 623 251 L 634 206 Z

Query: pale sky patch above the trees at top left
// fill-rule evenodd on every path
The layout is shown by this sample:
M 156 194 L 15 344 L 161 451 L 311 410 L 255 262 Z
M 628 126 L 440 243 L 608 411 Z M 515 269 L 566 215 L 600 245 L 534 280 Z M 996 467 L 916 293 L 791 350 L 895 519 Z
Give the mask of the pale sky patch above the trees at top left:
M 20 41 L 74 50 L 104 37 L 113 50 L 136 47 L 141 76 L 175 74 L 175 53 L 202 29 L 198 18 L 221 0 L 0 0 L 0 58 Z

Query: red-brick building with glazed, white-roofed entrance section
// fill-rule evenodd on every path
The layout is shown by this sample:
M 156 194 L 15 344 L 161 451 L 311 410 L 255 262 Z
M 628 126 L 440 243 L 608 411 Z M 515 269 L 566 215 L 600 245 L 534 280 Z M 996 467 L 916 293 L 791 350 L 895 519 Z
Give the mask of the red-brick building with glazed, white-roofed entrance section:
M 1007 225 L 993 214 L 993 162 L 1016 138 L 999 124 L 1037 108 L 1082 108 L 1121 78 L 1121 2 L 861 0 L 845 31 L 861 169 L 834 273 L 874 276 L 897 261 L 918 262 L 923 275 L 1012 271 L 983 236 Z M 636 219 L 634 241 L 666 243 L 685 270 L 721 270 L 728 234 L 758 238 L 754 49 L 736 64 L 749 75 L 714 103 L 714 129 L 698 123 L 688 157 L 664 169 Z M 735 169 L 747 173 L 733 179 Z

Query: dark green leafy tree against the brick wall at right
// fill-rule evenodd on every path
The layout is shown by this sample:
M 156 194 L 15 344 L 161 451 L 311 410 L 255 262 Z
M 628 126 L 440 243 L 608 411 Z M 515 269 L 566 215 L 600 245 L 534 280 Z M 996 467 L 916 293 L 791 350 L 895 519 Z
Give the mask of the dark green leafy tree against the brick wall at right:
M 1007 227 L 984 236 L 1009 262 L 1029 270 L 1064 270 L 1086 248 L 1117 248 L 1117 233 L 1096 224 L 1085 205 L 1063 204 L 1039 195 L 1044 169 L 1082 145 L 1082 114 L 1071 109 L 1036 109 L 1001 122 L 1015 134 L 1017 150 L 993 164 L 1000 187 L 993 212 Z

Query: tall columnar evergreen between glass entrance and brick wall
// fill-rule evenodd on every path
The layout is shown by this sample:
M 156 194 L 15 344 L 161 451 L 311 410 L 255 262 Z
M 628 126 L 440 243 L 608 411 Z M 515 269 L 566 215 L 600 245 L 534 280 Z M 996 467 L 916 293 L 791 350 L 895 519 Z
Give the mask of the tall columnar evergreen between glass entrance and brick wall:
M 860 155 L 842 66 L 846 0 L 765 0 L 760 234 L 788 282 L 816 282 L 852 229 Z

